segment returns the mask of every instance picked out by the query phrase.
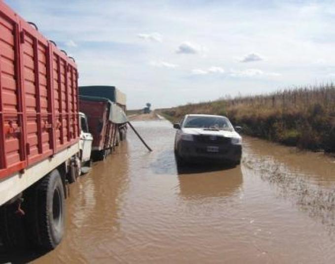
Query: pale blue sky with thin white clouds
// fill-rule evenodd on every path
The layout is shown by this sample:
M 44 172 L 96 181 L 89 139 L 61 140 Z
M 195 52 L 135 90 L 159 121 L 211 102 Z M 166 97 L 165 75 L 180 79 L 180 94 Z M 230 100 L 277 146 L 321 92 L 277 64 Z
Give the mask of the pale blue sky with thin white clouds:
M 128 109 L 335 79 L 335 5 L 285 0 L 5 0 Z

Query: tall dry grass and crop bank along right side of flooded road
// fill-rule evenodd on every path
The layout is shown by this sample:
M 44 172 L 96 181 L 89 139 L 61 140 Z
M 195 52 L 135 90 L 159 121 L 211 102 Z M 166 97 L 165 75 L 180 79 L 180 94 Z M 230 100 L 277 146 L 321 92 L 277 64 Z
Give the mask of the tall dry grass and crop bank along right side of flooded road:
M 184 114 L 228 116 L 243 132 L 310 150 L 335 152 L 335 86 L 303 87 L 259 96 L 219 99 L 159 110 L 177 122 Z

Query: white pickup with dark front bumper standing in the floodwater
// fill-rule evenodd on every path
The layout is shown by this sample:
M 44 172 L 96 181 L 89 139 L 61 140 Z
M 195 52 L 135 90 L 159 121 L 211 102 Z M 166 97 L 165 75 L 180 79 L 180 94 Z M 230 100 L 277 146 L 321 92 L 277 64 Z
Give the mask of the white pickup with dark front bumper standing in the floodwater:
M 227 117 L 185 115 L 181 123 L 174 124 L 173 128 L 177 129 L 174 152 L 178 165 L 203 160 L 240 164 L 242 137 Z

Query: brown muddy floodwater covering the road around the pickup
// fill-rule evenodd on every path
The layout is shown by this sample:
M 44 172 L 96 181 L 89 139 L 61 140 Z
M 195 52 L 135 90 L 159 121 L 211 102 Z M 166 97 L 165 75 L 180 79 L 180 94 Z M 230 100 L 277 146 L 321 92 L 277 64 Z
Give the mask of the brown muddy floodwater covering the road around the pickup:
M 62 243 L 35 263 L 335 263 L 335 159 L 244 137 L 235 168 L 177 169 L 169 122 L 134 126 L 70 187 Z

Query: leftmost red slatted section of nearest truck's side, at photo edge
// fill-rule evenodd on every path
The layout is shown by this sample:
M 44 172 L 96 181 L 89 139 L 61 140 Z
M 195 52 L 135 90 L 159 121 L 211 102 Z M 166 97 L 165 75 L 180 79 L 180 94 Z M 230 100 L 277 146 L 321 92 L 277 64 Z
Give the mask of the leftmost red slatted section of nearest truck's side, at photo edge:
M 18 170 L 22 161 L 22 106 L 18 93 L 16 60 L 18 27 L 0 12 L 0 176 L 4 169 Z

